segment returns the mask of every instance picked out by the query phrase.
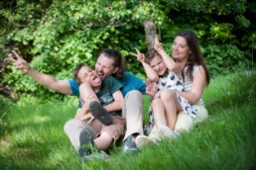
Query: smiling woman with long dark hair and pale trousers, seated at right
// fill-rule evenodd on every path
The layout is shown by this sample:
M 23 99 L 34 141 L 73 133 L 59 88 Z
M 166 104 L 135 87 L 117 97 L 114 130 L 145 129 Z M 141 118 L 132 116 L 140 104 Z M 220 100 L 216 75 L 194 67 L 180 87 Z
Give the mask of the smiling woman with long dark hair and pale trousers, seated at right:
M 162 46 L 155 44 L 155 46 Z M 159 129 L 153 127 L 149 137 L 140 135 L 136 138 L 138 147 L 147 143 L 154 143 L 153 138 L 169 137 L 173 138 L 180 132 L 189 131 L 196 123 L 207 119 L 207 110 L 204 107 L 201 96 L 204 88 L 209 84 L 210 75 L 201 55 L 196 35 L 192 31 L 183 31 L 179 33 L 173 43 L 173 59 L 164 50 L 163 47 L 155 47 L 161 54 L 169 69 L 174 71 L 184 82 L 184 91 L 175 91 L 170 89 L 169 95 L 162 93 L 154 97 L 155 105 L 163 103 L 172 103 L 177 111 L 181 110 L 177 96 L 182 96 L 194 106 L 196 114 L 189 114 L 185 111 L 178 113 L 175 125 L 175 132 L 165 125 Z M 154 96 L 153 88 L 147 88 L 147 93 Z M 151 122 L 151 124 L 154 124 Z

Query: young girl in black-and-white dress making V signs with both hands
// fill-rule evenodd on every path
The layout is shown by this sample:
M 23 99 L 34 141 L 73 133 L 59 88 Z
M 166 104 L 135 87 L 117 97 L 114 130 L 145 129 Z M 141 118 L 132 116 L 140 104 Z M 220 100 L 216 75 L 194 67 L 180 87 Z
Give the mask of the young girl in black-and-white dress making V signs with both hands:
M 174 66 L 173 59 L 171 57 L 162 57 L 158 52 L 163 51 L 163 45 L 158 41 L 158 38 L 156 37 L 155 39 L 154 48 L 149 49 L 145 55 L 140 53 L 137 48 L 136 50 L 137 54 L 131 54 L 137 57 L 145 69 L 148 77 L 147 92 L 152 99 L 150 128 L 154 126 L 155 122 L 161 135 L 160 137 L 173 138 L 174 133 L 168 127 L 175 129 L 177 113 L 185 111 L 190 115 L 196 115 L 196 110 L 185 98 L 176 93 L 176 91 L 184 90 L 184 83 L 172 71 Z M 162 52 L 162 54 L 166 53 Z M 173 99 L 171 96 L 174 95 L 177 97 L 180 107 L 174 107 L 176 104 L 171 101 Z

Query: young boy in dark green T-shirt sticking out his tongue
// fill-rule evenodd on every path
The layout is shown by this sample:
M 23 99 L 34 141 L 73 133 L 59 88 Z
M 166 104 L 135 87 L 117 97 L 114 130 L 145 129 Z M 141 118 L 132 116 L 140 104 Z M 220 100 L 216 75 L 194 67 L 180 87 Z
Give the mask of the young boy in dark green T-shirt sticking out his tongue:
M 84 120 L 86 124 L 79 137 L 78 153 L 88 156 L 91 152 L 88 144 L 105 150 L 123 134 L 122 85 L 111 76 L 101 80 L 94 70 L 83 63 L 74 69 L 73 79 L 80 84 L 82 104 L 75 118 Z

